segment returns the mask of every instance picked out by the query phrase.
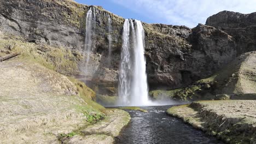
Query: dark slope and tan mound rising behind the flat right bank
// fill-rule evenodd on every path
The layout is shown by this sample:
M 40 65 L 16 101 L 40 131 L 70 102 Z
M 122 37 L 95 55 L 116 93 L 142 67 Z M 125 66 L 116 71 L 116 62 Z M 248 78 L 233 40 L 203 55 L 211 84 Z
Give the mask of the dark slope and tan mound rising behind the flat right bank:
M 153 99 L 177 100 L 256 99 L 256 52 L 243 53 L 206 79 L 171 91 L 151 91 Z

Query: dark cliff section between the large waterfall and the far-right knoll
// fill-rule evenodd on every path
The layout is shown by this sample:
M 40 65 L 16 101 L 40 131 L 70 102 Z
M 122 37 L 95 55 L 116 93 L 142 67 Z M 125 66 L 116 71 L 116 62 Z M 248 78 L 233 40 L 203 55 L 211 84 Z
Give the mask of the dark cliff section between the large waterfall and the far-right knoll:
M 219 29 L 201 24 L 191 30 L 168 27 L 173 29 L 173 34 L 147 33 L 145 28 L 148 36 L 147 74 L 153 89 L 154 85 L 158 88 L 186 86 L 212 74 L 236 57 L 234 39 Z

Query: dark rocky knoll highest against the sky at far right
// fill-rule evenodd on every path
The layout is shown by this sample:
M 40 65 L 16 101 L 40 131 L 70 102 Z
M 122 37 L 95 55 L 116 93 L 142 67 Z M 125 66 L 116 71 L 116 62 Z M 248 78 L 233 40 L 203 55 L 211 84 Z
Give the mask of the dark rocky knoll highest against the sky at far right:
M 237 44 L 238 54 L 255 50 L 256 44 L 256 13 L 241 14 L 222 11 L 210 16 L 206 25 L 222 29 L 231 35 Z

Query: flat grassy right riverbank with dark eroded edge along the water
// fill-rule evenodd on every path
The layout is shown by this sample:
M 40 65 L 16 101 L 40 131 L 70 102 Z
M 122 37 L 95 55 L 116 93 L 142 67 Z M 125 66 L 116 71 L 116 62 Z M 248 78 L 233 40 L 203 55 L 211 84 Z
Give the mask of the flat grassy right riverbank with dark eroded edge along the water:
M 255 111 L 255 100 L 214 100 L 174 106 L 167 113 L 226 143 L 254 144 Z

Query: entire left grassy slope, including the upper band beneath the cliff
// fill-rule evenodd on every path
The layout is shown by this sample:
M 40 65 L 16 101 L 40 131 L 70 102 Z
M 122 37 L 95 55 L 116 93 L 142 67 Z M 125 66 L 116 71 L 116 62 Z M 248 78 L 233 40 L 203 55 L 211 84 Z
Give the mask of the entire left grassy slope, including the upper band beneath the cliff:
M 0 65 L 0 70 L 10 71 L 10 69 L 12 69 L 13 77 L 9 78 L 9 82 L 19 80 L 18 77 L 22 73 L 24 73 L 24 76 L 21 77 L 24 79 L 19 80 L 18 82 L 20 83 L 15 82 L 15 84 L 10 84 L 16 86 L 12 89 L 7 87 L 1 88 L 4 89 L 4 91 L 0 93 L 0 103 L 4 103 L 4 105 L 1 105 L 3 106 L 1 108 L 3 111 L 0 115 L 0 117 L 4 118 L 1 124 L 4 126 L 0 134 L 3 143 L 16 141 L 21 139 L 21 137 L 23 142 L 28 143 L 55 143 L 58 140 L 63 142 L 69 141 L 73 136 L 84 137 L 81 130 L 86 129 L 87 125 L 94 124 L 102 118 L 104 118 L 106 125 L 112 125 L 113 130 L 119 133 L 121 128 L 130 121 L 130 116 L 127 112 L 121 110 L 107 110 L 97 104 L 95 102 L 95 92 L 84 85 L 83 82 L 73 77 L 67 78 L 59 74 L 68 75 L 70 73 L 78 73 L 77 62 L 80 59 L 78 52 L 65 50 L 63 47 L 27 43 L 20 37 L 0 34 L 0 56 L 11 52 L 21 52 L 21 55 L 18 58 L 14 58 L 14 60 L 3 62 L 3 64 Z M 8 69 L 1 69 L 1 66 L 4 64 L 9 65 Z M 24 71 L 24 69 L 26 70 Z M 18 73 L 18 71 L 20 71 L 20 73 Z M 8 73 L 5 73 L 5 75 L 4 73 L 1 74 L 3 77 L 8 76 Z M 29 77 L 30 74 L 36 75 L 31 78 Z M 33 80 L 32 82 L 30 82 L 31 79 Z M 55 79 L 57 81 L 55 81 Z M 5 83 L 6 85 L 5 80 L 6 79 L 2 79 L 0 83 Z M 41 83 L 39 86 L 33 84 L 33 82 L 37 81 L 44 81 L 44 83 Z M 61 85 L 59 84 L 60 81 Z M 67 83 L 69 83 L 72 89 L 68 88 Z M 67 89 L 63 90 L 62 88 Z M 23 93 L 21 89 L 24 89 L 24 92 L 22 91 Z M 42 92 L 42 89 L 48 90 L 47 92 Z M 5 94 L 3 92 L 5 92 Z M 66 92 L 73 93 L 69 94 L 71 96 L 68 96 Z M 22 95 L 29 98 L 27 99 Z M 8 100 L 8 97 L 11 97 L 10 100 Z M 13 99 L 12 97 L 15 97 L 15 100 L 11 100 Z M 26 109 L 24 110 L 18 107 L 25 107 Z M 20 109 L 21 111 L 14 112 L 15 109 Z M 9 115 L 8 111 L 5 110 L 9 110 L 10 113 L 17 113 L 19 116 L 24 116 L 22 116 L 22 118 L 16 118 L 14 115 L 12 118 L 13 123 L 8 124 L 11 118 L 3 114 Z M 43 112 L 42 115 L 38 115 L 40 113 L 38 113 L 38 111 Z M 120 118 L 116 119 L 114 116 Z M 33 120 L 34 117 L 37 118 L 36 121 Z M 47 121 L 47 123 L 44 124 L 44 121 Z M 17 125 L 15 123 L 20 124 L 17 127 L 13 127 L 13 125 Z M 114 127 L 116 123 L 118 123 L 118 127 Z M 94 124 L 95 127 L 98 127 L 97 125 L 101 124 Z M 37 127 L 36 131 L 33 130 L 34 127 Z M 109 136 L 107 133 L 94 133 L 90 136 L 90 139 L 96 142 L 101 141 L 108 143 L 114 141 L 114 136 L 115 135 Z M 11 139 L 11 137 L 13 137 L 13 139 Z

